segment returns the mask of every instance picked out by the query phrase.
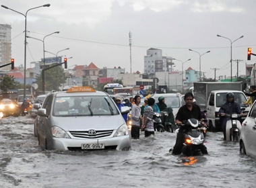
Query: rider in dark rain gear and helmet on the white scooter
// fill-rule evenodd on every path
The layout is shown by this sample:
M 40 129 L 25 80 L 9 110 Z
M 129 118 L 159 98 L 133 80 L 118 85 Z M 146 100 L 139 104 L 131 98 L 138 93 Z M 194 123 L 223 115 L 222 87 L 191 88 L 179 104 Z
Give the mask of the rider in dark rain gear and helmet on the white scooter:
M 224 140 L 226 140 L 226 122 L 230 120 L 230 117 L 226 114 L 238 113 L 243 114 L 241 107 L 236 101 L 234 101 L 234 93 L 226 93 L 226 103 L 224 103 L 219 110 L 220 113 L 220 125 L 222 125 L 222 131 L 224 134 Z

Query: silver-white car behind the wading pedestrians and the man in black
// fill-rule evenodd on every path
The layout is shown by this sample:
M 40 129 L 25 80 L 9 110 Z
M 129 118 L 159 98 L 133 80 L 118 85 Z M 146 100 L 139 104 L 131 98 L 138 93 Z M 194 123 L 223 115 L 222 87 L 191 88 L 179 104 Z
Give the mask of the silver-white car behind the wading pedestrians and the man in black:
M 183 95 L 181 93 L 154 93 L 151 97 L 154 97 L 156 103 L 158 103 L 159 97 L 164 97 L 167 107 L 172 107 L 172 113 L 174 117 L 177 115 L 179 108 L 185 105 Z

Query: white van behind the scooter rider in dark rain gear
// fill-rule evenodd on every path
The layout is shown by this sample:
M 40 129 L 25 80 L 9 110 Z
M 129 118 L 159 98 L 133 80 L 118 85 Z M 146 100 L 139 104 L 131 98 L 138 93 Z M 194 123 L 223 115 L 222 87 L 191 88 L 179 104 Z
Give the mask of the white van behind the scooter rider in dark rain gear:
M 218 113 L 219 113 L 220 107 L 224 103 L 226 103 L 226 93 L 228 92 L 234 93 L 234 101 L 239 103 L 241 107 L 245 108 L 243 113 L 248 113 L 250 110 L 249 105 L 245 105 L 243 103 L 247 101 L 247 97 L 245 96 L 245 93 L 243 93 L 242 91 L 235 91 L 235 90 L 211 91 L 207 101 L 207 119 L 209 122 L 210 129 L 215 128 L 217 130 L 222 130 L 222 127 L 220 125 L 220 117 Z M 243 117 L 242 120 L 245 120 L 245 117 Z

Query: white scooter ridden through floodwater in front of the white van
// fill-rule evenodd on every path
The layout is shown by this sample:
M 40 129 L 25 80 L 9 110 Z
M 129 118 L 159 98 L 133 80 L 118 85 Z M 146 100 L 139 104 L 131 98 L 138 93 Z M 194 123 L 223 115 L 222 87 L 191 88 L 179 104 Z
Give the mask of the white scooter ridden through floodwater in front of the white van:
M 226 140 L 238 141 L 242 131 L 241 122 L 238 119 L 243 115 L 237 113 L 225 115 L 230 117 L 230 120 L 226 122 Z

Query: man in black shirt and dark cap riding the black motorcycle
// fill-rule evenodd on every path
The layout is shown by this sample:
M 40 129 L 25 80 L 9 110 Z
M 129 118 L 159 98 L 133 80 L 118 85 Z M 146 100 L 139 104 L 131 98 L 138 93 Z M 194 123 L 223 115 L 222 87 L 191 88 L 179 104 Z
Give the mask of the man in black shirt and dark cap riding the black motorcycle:
M 201 115 L 201 109 L 198 105 L 195 105 L 193 103 L 194 96 L 192 93 L 186 93 L 184 96 L 185 99 L 185 105 L 180 107 L 177 116 L 176 116 L 176 124 L 181 126 L 184 121 L 189 120 L 191 118 L 195 118 L 196 120 L 199 120 L 200 122 L 203 121 L 202 115 Z M 204 125 L 204 123 L 202 122 Z M 181 154 L 182 148 L 183 148 L 183 142 L 184 142 L 184 132 L 185 128 L 181 126 L 179 128 L 179 132 L 177 134 L 176 143 L 173 147 L 172 154 Z

